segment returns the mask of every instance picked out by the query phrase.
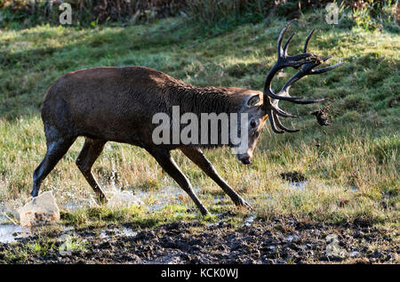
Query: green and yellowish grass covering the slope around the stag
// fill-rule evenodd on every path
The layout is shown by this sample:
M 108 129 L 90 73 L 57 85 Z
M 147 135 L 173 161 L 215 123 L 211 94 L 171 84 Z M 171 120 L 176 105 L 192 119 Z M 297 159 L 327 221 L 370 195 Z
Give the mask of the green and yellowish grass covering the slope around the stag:
M 252 165 L 241 165 L 225 148 L 205 154 L 220 175 L 252 203 L 260 218 L 291 216 L 396 228 L 400 207 L 400 36 L 385 29 L 330 26 L 321 15 L 300 17 L 293 27 L 297 35 L 290 52 L 300 52 L 308 30 L 316 27 L 310 50 L 332 54 L 332 63 L 343 60 L 346 64 L 322 76 L 302 79 L 292 93 L 328 98 L 332 125 L 320 127 L 314 117 L 305 116 L 316 106 L 283 103 L 284 109 L 303 115 L 292 122 L 301 131 L 277 135 L 266 125 Z M 284 20 L 276 18 L 268 28 L 262 22 L 243 24 L 210 36 L 176 18 L 129 28 L 0 30 L 0 203 L 13 208 L 29 198 L 32 173 L 45 153 L 39 105 L 58 77 L 78 68 L 142 65 L 194 85 L 260 90 L 268 68 L 276 61 L 276 38 L 283 26 Z M 277 85 L 283 85 L 291 74 L 288 71 L 278 78 Z M 64 223 L 133 222 L 151 227 L 165 221 L 216 220 L 215 216 L 203 219 L 183 193 L 178 200 L 150 212 L 146 207 L 68 211 L 70 201 L 93 197 L 75 165 L 82 146 L 83 139 L 78 139 L 42 186 L 42 191 L 54 191 Z M 231 221 L 244 221 L 249 212 L 233 209 L 221 189 L 180 152 L 173 156 L 212 214 L 233 210 L 236 215 Z M 281 180 L 280 173 L 292 171 L 305 174 L 305 189 Z M 176 186 L 143 149 L 113 142 L 94 165 L 94 173 L 106 189 L 116 186 L 149 193 L 145 206 L 163 203 L 163 188 Z

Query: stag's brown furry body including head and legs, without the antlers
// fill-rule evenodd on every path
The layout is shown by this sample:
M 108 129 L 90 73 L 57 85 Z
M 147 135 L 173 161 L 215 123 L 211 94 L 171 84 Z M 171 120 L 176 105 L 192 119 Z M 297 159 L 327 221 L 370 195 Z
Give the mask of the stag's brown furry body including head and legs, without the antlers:
M 196 87 L 160 71 L 144 67 L 88 68 L 69 72 L 50 87 L 42 104 L 42 118 L 47 153 L 34 173 L 32 195 L 54 165 L 67 152 L 78 136 L 86 137 L 76 165 L 91 184 L 100 200 L 105 196 L 91 169 L 107 141 L 129 143 L 147 149 L 167 173 L 185 189 L 203 214 L 200 203 L 187 178 L 173 162 L 169 151 L 181 149 L 199 165 L 234 200 L 236 205 L 249 206 L 215 172 L 200 147 L 207 145 L 161 144 L 152 141 L 156 113 L 172 116 L 172 106 L 184 113 L 242 113 L 252 119 L 249 149 L 237 157 L 250 163 L 260 129 L 267 118 L 262 107 L 262 93 L 236 87 Z M 200 131 L 199 131 L 200 132 Z M 222 144 L 216 144 L 220 146 Z

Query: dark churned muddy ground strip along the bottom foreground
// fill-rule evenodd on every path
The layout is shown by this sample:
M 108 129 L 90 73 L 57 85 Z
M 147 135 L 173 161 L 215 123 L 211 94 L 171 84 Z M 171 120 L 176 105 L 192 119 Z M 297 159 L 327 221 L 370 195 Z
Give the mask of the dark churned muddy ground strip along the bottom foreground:
M 172 222 L 154 229 L 68 230 L 0 245 L 0 262 L 22 263 L 399 263 L 398 232 L 357 224 L 255 220 Z M 74 238 L 77 246 L 68 248 Z M 37 242 L 42 247 L 37 250 Z M 36 245 L 35 245 L 36 244 Z

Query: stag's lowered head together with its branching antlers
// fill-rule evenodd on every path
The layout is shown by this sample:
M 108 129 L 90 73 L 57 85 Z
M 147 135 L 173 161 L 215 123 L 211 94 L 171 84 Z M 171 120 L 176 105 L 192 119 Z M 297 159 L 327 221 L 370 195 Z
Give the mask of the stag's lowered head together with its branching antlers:
M 324 99 L 304 100 L 304 97 L 292 97 L 289 94 L 289 89 L 291 86 L 302 77 L 322 74 L 343 64 L 343 62 L 340 62 L 326 68 L 314 69 L 320 64 L 324 63 L 325 60 L 332 58 L 331 55 L 321 57 L 319 55 L 307 52 L 309 39 L 313 35 L 315 29 L 311 30 L 311 32 L 308 34 L 306 43 L 304 44 L 303 53 L 293 56 L 288 55 L 287 50 L 294 33 L 286 41 L 284 47 L 282 47 L 282 42 L 284 40 L 284 34 L 290 28 L 293 21 L 294 20 L 290 21 L 286 27 L 282 29 L 278 37 L 277 60 L 275 65 L 268 72 L 263 93 L 254 92 L 254 94 L 249 95 L 248 100 L 245 101 L 245 106 L 247 108 L 244 109 L 244 112 L 248 113 L 247 149 L 245 152 L 236 154 L 237 159 L 240 160 L 244 165 L 248 165 L 252 161 L 252 151 L 255 148 L 260 135 L 260 130 L 264 126 L 264 122 L 267 120 L 267 118 L 274 133 L 296 133 L 299 131 L 285 127 L 280 121 L 279 117 L 297 117 L 285 112 L 283 109 L 280 109 L 278 107 L 280 100 L 291 101 L 296 104 L 311 104 L 324 101 Z M 278 73 L 281 69 L 289 67 L 299 69 L 299 71 L 284 84 L 278 93 L 275 93 L 271 88 L 273 77 L 275 77 L 276 73 Z

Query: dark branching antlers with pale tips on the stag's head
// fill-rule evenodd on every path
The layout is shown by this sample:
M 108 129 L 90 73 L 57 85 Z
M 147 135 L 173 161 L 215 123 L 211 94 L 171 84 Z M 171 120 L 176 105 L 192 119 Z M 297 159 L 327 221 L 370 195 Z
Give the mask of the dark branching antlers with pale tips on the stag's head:
M 289 56 L 287 54 L 287 49 L 289 47 L 289 43 L 292 40 L 292 37 L 294 36 L 294 33 L 286 41 L 286 43 L 284 44 L 284 48 L 282 48 L 282 41 L 284 40 L 284 34 L 291 27 L 293 21 L 294 20 L 291 20 L 286 25 L 286 27 L 284 27 L 284 29 L 282 29 L 282 31 L 278 37 L 277 60 L 276 60 L 274 67 L 272 67 L 271 70 L 269 70 L 267 78 L 265 80 L 265 84 L 264 84 L 264 106 L 265 106 L 265 110 L 268 114 L 269 123 L 271 124 L 272 130 L 275 133 L 284 133 L 284 132 L 296 133 L 299 131 L 299 130 L 286 128 L 286 127 L 284 127 L 284 125 L 282 125 L 278 116 L 281 116 L 281 117 L 297 117 L 297 116 L 293 116 L 293 115 L 285 112 L 283 109 L 279 109 L 279 107 L 278 107 L 279 100 L 291 101 L 296 104 L 311 104 L 311 103 L 317 103 L 317 102 L 324 101 L 324 99 L 303 100 L 304 97 L 292 97 L 289 94 L 289 89 L 291 88 L 291 86 L 296 81 L 298 81 L 301 77 L 306 77 L 308 75 L 322 74 L 328 70 L 337 68 L 341 64 L 343 64 L 343 62 L 340 62 L 340 63 L 337 63 L 330 67 L 314 69 L 314 68 L 316 68 L 316 66 L 322 64 L 325 60 L 329 60 L 332 58 L 331 55 L 326 56 L 326 57 L 320 57 L 316 54 L 307 52 L 309 39 L 313 35 L 315 29 L 311 30 L 311 32 L 308 34 L 308 36 L 306 38 L 306 43 L 304 44 L 303 53 L 300 55 Z M 282 68 L 288 68 L 288 67 L 298 68 L 299 71 L 284 84 L 284 86 L 281 88 L 281 90 L 278 93 L 274 93 L 274 91 L 271 89 L 273 77 L 276 75 L 276 73 L 279 70 L 281 70 Z M 276 126 L 280 130 L 277 129 Z

